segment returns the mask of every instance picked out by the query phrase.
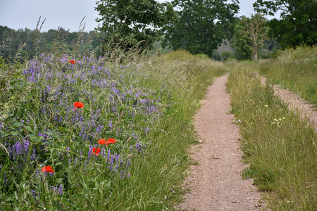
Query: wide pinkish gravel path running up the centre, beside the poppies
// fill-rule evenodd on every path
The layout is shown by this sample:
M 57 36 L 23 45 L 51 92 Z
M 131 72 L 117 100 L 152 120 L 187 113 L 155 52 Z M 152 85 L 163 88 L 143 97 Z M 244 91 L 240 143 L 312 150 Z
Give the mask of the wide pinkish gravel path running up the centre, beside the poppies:
M 199 165 L 185 180 L 190 192 L 179 208 L 187 210 L 258 210 L 260 193 L 251 179 L 242 179 L 242 153 L 238 127 L 233 124 L 230 97 L 225 91 L 228 75 L 209 87 L 196 117 L 201 144 L 193 147 Z

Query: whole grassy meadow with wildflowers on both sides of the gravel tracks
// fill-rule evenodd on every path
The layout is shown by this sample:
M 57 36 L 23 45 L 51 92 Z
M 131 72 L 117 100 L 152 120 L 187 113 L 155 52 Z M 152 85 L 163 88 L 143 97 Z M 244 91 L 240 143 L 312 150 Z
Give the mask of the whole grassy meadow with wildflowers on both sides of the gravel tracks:
M 316 47 L 220 63 L 55 46 L 24 63 L 0 59 L 0 210 L 177 210 L 198 143 L 192 117 L 227 72 L 243 177 L 272 210 L 316 210 L 316 133 L 272 88 L 316 106 Z

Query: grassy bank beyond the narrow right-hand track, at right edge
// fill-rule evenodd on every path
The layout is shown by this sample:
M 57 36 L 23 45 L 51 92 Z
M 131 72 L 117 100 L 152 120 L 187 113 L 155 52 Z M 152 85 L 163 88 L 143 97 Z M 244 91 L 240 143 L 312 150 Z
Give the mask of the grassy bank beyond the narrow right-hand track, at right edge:
M 261 75 L 299 93 L 317 107 L 317 46 L 301 46 L 255 64 Z

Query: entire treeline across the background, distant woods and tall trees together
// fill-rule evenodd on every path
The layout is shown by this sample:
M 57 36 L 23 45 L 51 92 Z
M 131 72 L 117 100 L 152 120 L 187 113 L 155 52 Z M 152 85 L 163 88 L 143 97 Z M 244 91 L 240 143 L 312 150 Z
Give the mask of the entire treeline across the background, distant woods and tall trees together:
M 253 5 L 256 13 L 250 17 L 237 17 L 237 1 L 101 0 L 96 4 L 101 17 L 97 18 L 97 32 L 68 32 L 63 28 L 15 31 L 0 26 L 1 56 L 24 60 L 56 49 L 61 53 L 94 49 L 99 56 L 109 54 L 111 49 L 143 51 L 159 49 L 161 45 L 215 60 L 257 60 L 271 57 L 275 49 L 317 43 L 314 0 L 257 0 Z M 275 18 L 268 20 L 265 15 Z M 233 47 L 232 51 L 217 51 L 224 40 Z

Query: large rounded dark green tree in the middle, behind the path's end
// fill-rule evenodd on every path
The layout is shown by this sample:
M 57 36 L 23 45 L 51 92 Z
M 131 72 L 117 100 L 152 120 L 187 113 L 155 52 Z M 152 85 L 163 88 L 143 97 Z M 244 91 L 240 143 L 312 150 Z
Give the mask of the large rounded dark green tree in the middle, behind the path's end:
M 226 37 L 230 38 L 239 6 L 220 0 L 175 0 L 178 18 L 166 27 L 166 41 L 174 49 L 212 56 Z

